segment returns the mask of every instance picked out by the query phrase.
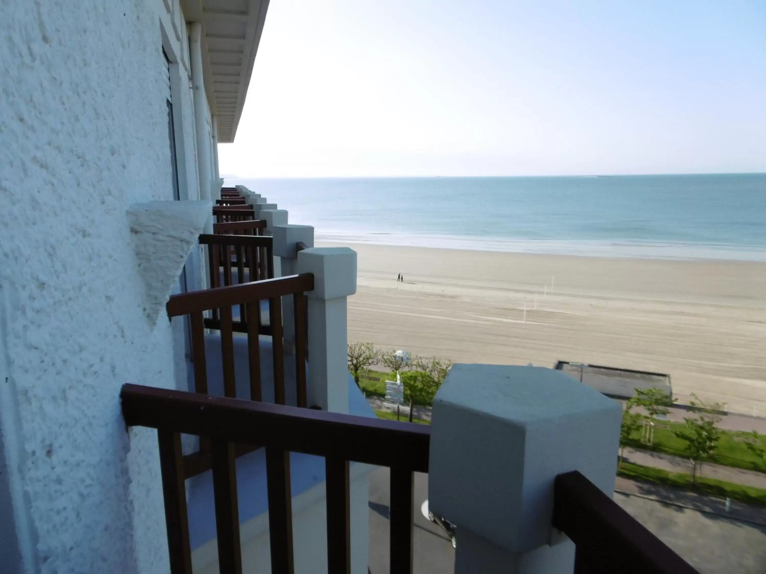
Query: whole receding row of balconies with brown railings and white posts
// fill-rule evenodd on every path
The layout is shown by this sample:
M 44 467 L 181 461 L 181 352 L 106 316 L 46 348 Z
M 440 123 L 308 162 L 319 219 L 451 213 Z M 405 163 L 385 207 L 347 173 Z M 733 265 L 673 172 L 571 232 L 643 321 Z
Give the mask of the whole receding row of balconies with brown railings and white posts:
M 611 500 L 620 407 L 565 373 L 456 365 L 430 427 L 375 419 L 346 368 L 355 253 L 314 249 L 276 207 L 222 191 L 199 236 L 209 289 L 166 305 L 188 391 L 121 393 L 127 425 L 157 431 L 174 574 L 366 571 L 370 465 L 391 469 L 391 572 L 413 571 L 415 472 L 455 527 L 456 572 L 695 572 Z

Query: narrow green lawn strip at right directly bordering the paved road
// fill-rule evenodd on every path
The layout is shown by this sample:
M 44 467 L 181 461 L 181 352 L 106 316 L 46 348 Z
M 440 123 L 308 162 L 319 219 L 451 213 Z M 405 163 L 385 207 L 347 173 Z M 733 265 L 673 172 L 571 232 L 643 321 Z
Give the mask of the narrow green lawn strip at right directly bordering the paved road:
M 702 473 L 705 473 L 705 467 L 702 467 Z M 661 468 L 651 468 L 648 466 L 634 465 L 632 462 L 624 462 L 617 469 L 617 476 L 631 478 L 637 481 L 653 482 L 663 486 L 673 486 L 683 488 L 688 491 L 694 491 L 699 494 L 706 494 L 720 498 L 732 498 L 732 500 L 742 501 L 748 504 L 761 504 L 766 506 L 766 490 L 732 482 L 718 481 L 715 478 L 705 478 L 702 476 L 697 479 L 696 484 L 692 483 L 692 478 L 686 472 L 669 472 Z

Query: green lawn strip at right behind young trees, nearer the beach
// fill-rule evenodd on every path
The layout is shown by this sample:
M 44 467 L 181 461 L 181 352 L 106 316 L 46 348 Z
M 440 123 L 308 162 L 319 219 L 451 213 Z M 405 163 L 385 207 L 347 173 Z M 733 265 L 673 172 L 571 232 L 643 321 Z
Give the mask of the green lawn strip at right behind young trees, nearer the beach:
M 631 436 L 630 446 L 642 448 L 643 450 L 665 452 L 669 455 L 686 456 L 684 452 L 686 442 L 683 442 L 683 440 L 673 434 L 673 429 L 683 429 L 686 427 L 683 422 L 656 421 L 654 425 L 654 442 L 652 445 L 641 442 L 641 432 L 638 431 Z M 743 439 L 746 438 L 749 438 L 747 432 L 724 431 L 718 448 L 710 462 L 766 472 L 764 461 L 755 457 L 745 446 Z

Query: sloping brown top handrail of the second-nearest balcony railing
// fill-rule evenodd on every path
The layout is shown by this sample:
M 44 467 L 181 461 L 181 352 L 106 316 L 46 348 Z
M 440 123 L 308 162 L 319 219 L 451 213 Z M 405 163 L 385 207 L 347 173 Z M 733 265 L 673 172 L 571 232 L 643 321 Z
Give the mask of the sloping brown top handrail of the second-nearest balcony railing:
M 211 308 L 231 307 L 313 290 L 314 276 L 311 273 L 303 273 L 173 295 L 165 308 L 169 317 L 177 317 L 209 311 Z

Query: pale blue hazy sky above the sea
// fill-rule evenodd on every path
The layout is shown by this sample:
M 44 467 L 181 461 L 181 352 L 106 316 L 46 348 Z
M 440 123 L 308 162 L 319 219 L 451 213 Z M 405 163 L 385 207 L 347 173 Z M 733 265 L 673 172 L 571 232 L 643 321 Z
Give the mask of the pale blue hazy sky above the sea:
M 766 171 L 766 2 L 271 0 L 221 174 Z

